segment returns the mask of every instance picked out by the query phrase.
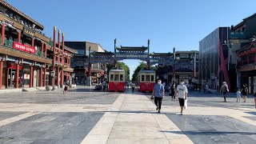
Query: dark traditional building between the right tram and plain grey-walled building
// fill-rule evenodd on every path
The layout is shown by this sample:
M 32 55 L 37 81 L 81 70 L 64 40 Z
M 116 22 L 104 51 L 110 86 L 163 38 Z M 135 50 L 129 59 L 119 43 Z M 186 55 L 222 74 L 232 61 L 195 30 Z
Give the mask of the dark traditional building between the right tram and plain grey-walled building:
M 175 53 L 174 65 L 166 65 L 166 60 L 173 57 Z M 159 64 L 157 75 L 164 79 L 165 82 L 185 82 L 198 83 L 198 50 L 175 51 L 174 53 L 154 53 L 150 54 L 152 58 L 162 58 L 164 65 Z M 194 62 L 195 61 L 195 62 Z

